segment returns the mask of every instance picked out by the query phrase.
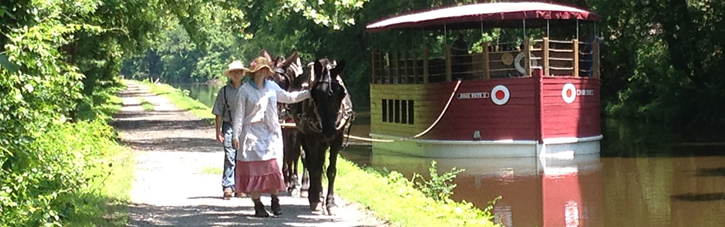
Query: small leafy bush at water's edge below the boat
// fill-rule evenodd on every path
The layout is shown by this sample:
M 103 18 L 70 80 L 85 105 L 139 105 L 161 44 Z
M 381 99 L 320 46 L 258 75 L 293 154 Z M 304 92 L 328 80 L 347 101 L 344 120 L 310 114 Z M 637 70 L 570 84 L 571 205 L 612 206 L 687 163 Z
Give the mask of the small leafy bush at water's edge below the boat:
M 451 195 L 453 195 L 453 189 L 457 186 L 453 183 L 453 179 L 455 179 L 456 174 L 460 174 L 465 169 L 456 169 L 453 167 L 450 172 L 438 175 L 436 161 L 431 161 L 431 168 L 428 168 L 428 171 L 430 171 L 430 179 L 427 181 L 421 174 L 413 174 L 413 178 L 410 181 L 413 182 L 415 189 L 421 190 L 426 197 L 431 197 L 437 201 L 447 201 L 450 200 Z

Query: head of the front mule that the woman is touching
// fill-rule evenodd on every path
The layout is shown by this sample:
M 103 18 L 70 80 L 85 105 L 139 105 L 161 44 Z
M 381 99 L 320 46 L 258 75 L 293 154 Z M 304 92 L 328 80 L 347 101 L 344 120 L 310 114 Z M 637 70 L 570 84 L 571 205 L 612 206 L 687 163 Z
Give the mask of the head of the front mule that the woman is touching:
M 323 135 L 327 139 L 334 137 L 337 132 L 336 121 L 342 100 L 347 95 L 347 87 L 341 82 L 345 62 L 334 64 L 327 59 L 315 61 L 313 67 L 314 81 L 310 87 L 312 100 L 320 117 Z

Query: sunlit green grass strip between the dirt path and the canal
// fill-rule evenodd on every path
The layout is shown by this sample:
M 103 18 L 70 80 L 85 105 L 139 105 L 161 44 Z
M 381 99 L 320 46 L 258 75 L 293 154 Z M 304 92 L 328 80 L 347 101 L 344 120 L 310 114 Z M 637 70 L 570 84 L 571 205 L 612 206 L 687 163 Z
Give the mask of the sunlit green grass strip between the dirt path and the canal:
M 144 82 L 144 85 L 149 86 L 152 93 L 169 98 L 178 108 L 189 110 L 199 118 L 214 117 L 210 108 L 184 95 L 183 90 L 149 82 Z M 370 169 L 363 170 L 341 157 L 337 163 L 336 193 L 345 200 L 359 202 L 393 226 L 495 226 L 489 221 L 491 216 L 473 204 L 436 202 L 414 189 L 402 178 L 402 174 L 393 172 L 383 176 Z M 221 174 L 220 168 L 204 168 L 201 171 Z

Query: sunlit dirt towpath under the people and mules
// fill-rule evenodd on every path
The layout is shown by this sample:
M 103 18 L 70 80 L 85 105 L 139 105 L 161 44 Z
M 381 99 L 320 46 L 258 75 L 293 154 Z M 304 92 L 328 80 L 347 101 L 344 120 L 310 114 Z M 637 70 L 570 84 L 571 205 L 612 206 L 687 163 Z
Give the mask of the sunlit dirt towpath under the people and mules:
M 280 198 L 283 215 L 252 217 L 249 198 L 222 200 L 221 174 L 204 173 L 223 166 L 213 127 L 143 85 L 127 85 L 114 126 L 136 156 L 129 226 L 386 226 L 342 200 L 340 215 L 329 216 L 312 213 L 306 198 L 286 195 Z M 154 111 L 144 111 L 141 98 L 153 103 Z M 262 202 L 270 210 L 270 197 Z

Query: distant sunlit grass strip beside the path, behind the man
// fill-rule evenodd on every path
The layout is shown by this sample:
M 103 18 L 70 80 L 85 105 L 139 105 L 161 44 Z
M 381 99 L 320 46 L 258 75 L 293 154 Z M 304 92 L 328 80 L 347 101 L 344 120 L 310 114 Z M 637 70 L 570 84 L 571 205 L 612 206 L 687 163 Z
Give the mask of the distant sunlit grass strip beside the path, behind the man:
M 148 86 L 151 93 L 154 93 L 155 95 L 161 95 L 169 99 L 172 103 L 174 103 L 177 108 L 180 108 L 184 111 L 189 111 L 191 112 L 191 114 L 194 114 L 194 116 L 198 117 L 199 119 L 205 119 L 207 121 L 210 121 L 210 123 L 214 122 L 215 116 L 214 114 L 212 114 L 211 108 L 204 105 L 204 103 L 199 102 L 199 100 L 189 98 L 188 90 L 181 90 L 172 87 L 171 85 L 159 85 L 147 81 L 143 81 L 141 82 L 141 84 Z

